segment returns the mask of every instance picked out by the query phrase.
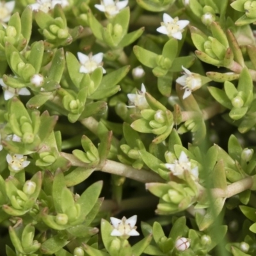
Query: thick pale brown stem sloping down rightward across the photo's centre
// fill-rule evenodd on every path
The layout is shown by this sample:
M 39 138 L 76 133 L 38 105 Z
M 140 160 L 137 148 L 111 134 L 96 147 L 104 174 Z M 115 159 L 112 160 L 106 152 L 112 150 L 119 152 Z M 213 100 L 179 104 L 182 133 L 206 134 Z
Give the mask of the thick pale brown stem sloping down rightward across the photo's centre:
M 72 166 L 79 166 L 84 168 L 93 168 L 92 166 L 88 166 L 88 164 L 83 163 L 79 159 L 77 159 L 72 154 L 68 154 L 65 152 L 60 153 L 61 156 L 65 157 L 70 161 Z M 107 172 L 111 174 L 120 175 L 129 179 L 137 180 L 143 183 L 147 182 L 164 182 L 164 180 L 159 177 L 156 173 L 147 170 L 137 170 L 132 168 L 132 166 L 118 163 L 112 160 L 106 160 L 102 166 L 95 167 L 95 170 L 99 170 L 101 172 Z

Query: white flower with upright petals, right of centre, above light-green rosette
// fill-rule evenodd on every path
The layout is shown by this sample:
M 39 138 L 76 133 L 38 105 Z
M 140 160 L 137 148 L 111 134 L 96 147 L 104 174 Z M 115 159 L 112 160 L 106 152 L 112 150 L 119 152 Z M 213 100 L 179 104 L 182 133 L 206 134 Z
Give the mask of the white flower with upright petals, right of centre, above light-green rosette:
M 173 175 L 182 178 L 183 173 L 187 170 L 191 173 L 193 179 L 198 179 L 198 166 L 191 168 L 191 161 L 189 161 L 188 156 L 184 151 L 180 153 L 179 160 L 174 160 L 172 164 L 164 164 L 168 170 L 172 172 Z

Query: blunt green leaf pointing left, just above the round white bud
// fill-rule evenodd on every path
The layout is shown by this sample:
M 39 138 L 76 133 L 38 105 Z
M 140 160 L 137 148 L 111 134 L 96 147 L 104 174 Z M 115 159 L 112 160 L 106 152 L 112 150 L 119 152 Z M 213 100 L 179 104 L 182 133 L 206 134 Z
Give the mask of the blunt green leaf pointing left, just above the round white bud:
M 142 47 L 135 45 L 133 47 L 133 52 L 136 55 L 137 59 L 145 66 L 154 68 L 157 66 L 156 64 L 156 58 L 157 54 L 151 51 L 148 51 L 146 49 L 143 49 Z

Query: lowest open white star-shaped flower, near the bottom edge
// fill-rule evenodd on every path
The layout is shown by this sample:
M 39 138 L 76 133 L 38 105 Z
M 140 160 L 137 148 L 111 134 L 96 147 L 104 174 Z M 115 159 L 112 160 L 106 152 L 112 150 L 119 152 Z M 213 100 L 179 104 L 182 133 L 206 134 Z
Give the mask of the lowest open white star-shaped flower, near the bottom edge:
M 136 231 L 137 227 L 135 226 L 137 215 L 134 215 L 129 219 L 123 217 L 122 220 L 111 217 L 110 220 L 114 227 L 110 234 L 111 236 L 122 236 L 125 239 L 127 239 L 129 236 L 140 236 L 138 231 Z

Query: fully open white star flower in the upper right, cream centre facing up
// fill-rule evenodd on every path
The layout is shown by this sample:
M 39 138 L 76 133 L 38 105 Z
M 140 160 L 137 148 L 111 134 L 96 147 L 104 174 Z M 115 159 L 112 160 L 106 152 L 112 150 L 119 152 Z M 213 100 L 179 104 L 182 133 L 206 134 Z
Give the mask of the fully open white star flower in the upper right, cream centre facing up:
M 178 17 L 172 19 L 170 15 L 164 13 L 163 22 L 161 22 L 161 27 L 156 30 L 159 33 L 174 37 L 176 39 L 182 39 L 182 32 L 184 28 L 188 26 L 189 20 L 179 20 Z

